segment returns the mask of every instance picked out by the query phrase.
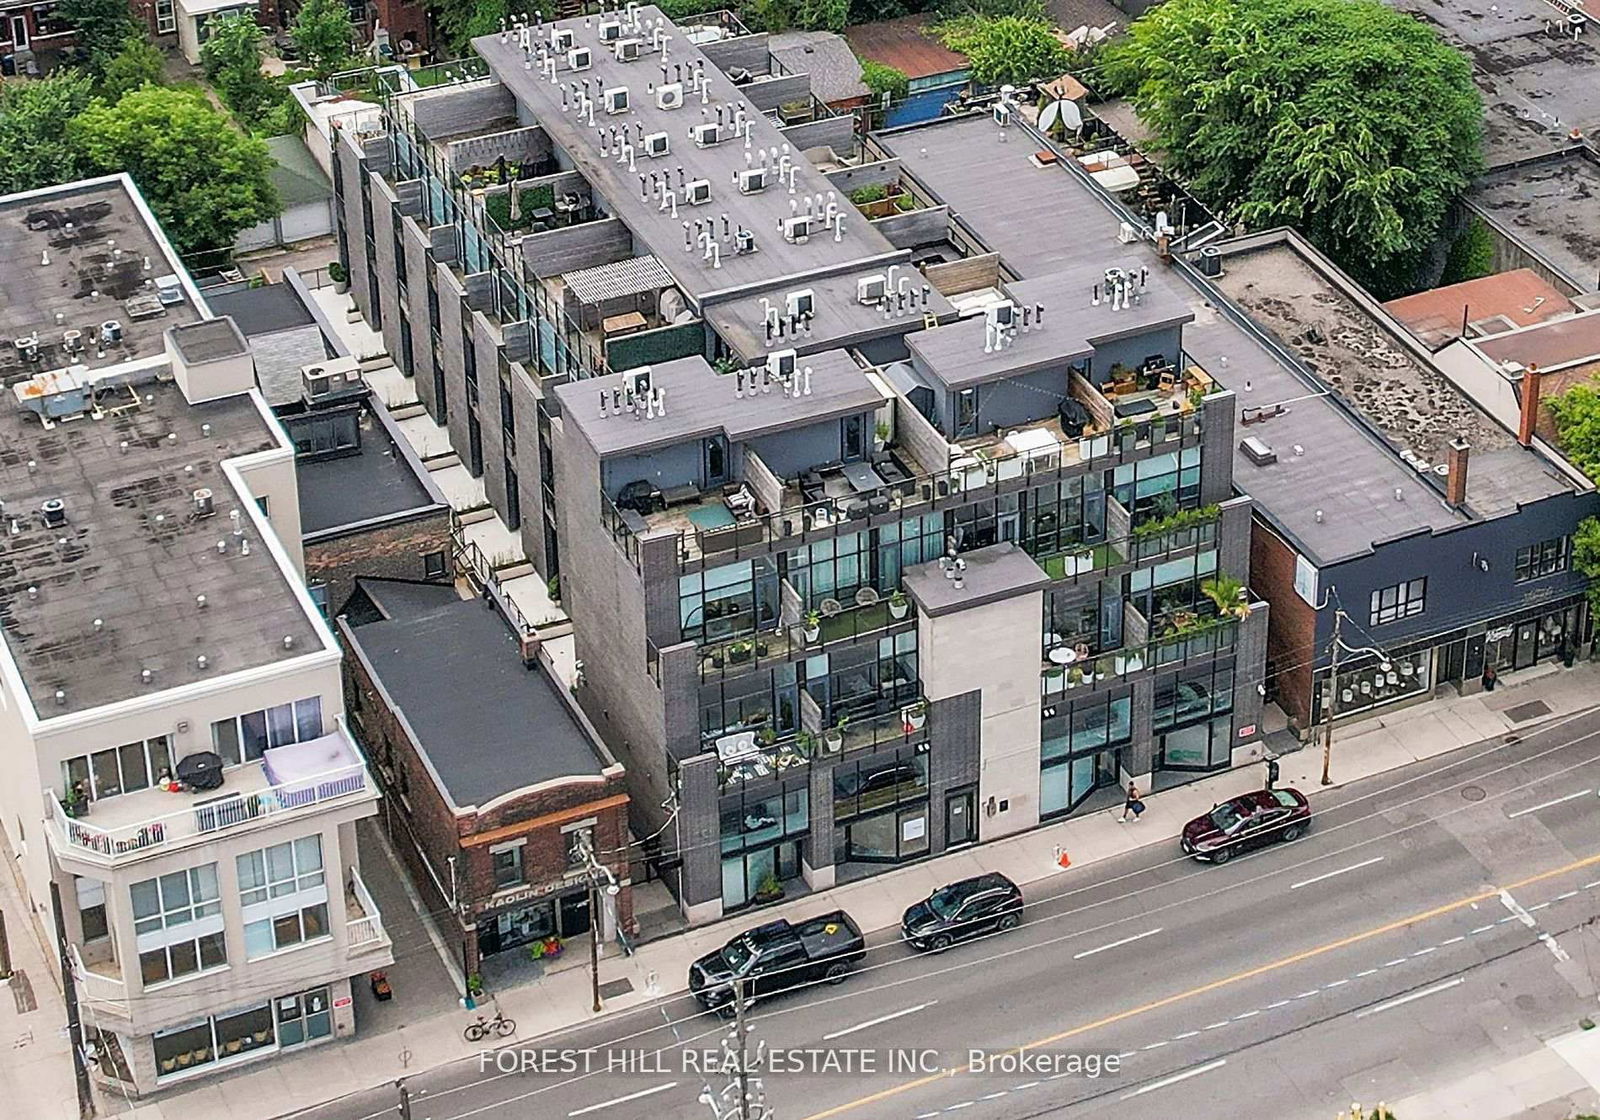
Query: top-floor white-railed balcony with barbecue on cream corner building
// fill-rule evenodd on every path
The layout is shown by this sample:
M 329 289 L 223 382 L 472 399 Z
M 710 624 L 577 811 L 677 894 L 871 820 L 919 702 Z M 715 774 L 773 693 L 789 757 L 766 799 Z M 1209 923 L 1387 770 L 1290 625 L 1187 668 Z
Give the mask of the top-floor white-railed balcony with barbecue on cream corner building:
M 326 760 L 312 768 L 312 760 Z M 274 774 L 277 778 L 274 778 Z M 101 867 L 211 842 L 227 832 L 275 824 L 286 814 L 376 800 L 360 752 L 341 726 L 318 739 L 267 750 L 261 762 L 222 771 L 218 789 L 146 789 L 90 803 L 74 816 L 46 790 L 56 856 Z

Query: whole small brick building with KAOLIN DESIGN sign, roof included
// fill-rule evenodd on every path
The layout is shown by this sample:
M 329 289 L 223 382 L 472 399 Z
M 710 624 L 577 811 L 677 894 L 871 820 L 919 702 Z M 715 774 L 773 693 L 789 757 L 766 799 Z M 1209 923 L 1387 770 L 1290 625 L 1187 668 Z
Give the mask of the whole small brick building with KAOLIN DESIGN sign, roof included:
M 518 954 L 589 938 L 582 838 L 621 886 L 598 893 L 603 941 L 629 928 L 622 766 L 547 658 L 525 661 L 488 605 L 432 584 L 360 579 L 338 627 L 384 822 L 462 970 L 493 987 Z

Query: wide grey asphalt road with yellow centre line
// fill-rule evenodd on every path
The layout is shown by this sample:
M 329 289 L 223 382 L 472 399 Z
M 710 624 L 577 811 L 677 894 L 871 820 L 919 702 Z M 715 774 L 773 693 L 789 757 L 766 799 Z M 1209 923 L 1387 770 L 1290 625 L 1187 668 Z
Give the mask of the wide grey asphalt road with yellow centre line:
M 1600 714 L 1314 805 L 1309 835 L 1222 867 L 1158 843 L 1064 870 L 1027 891 L 1019 930 L 944 954 L 869 936 L 843 984 L 750 1013 L 773 1117 L 1234 1120 L 1248 1101 L 1326 1120 L 1533 1051 L 1595 1010 Z M 704 1120 L 726 1034 L 662 1000 L 419 1074 L 411 1117 Z M 302 1115 L 374 1120 L 395 1102 L 386 1086 Z

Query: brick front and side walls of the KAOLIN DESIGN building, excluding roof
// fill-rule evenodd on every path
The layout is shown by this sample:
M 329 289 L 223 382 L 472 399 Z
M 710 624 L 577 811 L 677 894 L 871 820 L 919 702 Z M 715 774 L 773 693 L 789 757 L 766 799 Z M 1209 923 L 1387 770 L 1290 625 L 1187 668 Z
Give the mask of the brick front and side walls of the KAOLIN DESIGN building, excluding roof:
M 632 931 L 627 782 L 622 768 L 611 766 L 611 773 L 600 774 L 597 760 L 592 778 L 547 782 L 482 811 L 458 813 L 435 784 L 405 726 L 384 702 L 352 648 L 344 622 L 341 637 L 346 643 L 346 710 L 384 790 L 379 819 L 427 910 L 440 915 L 440 930 L 464 971 L 478 971 L 480 939 L 475 930 L 480 923 L 496 923 L 498 915 L 525 915 L 549 902 L 554 931 L 566 938 L 573 938 L 570 926 L 574 922 L 587 920 L 586 877 L 581 864 L 574 866 L 568 854 L 571 832 L 579 826 L 590 829 L 595 853 L 616 875 L 621 885 L 614 901 L 616 920 L 622 930 Z M 493 850 L 502 845 L 520 845 L 522 880 L 496 888 Z M 459 909 L 454 922 L 445 917 L 451 890 Z M 526 923 L 526 918 L 522 920 Z M 542 914 L 533 918 L 542 920 Z M 586 939 L 587 933 L 579 936 Z M 574 938 L 571 947 L 582 949 L 582 939 Z M 522 942 L 502 949 L 518 950 Z

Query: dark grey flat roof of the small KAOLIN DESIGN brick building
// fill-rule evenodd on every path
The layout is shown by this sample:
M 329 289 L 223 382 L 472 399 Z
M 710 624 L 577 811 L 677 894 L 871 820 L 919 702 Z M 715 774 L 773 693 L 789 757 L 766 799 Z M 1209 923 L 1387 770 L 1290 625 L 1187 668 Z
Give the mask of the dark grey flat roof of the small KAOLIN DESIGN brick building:
M 357 584 L 376 610 L 347 614 L 347 634 L 456 808 L 613 765 L 496 611 L 454 587 Z

